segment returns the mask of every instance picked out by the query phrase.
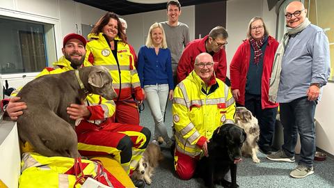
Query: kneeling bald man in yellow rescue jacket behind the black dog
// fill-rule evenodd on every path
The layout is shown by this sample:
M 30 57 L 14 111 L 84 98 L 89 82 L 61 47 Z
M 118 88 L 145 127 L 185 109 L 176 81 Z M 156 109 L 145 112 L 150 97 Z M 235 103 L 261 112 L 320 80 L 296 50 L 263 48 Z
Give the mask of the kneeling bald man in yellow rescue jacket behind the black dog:
M 189 180 L 201 155 L 209 155 L 207 143 L 214 130 L 234 123 L 234 98 L 228 86 L 215 77 L 210 54 L 196 57 L 194 70 L 174 90 L 172 109 L 175 171 L 182 180 Z

